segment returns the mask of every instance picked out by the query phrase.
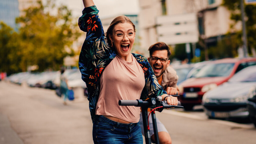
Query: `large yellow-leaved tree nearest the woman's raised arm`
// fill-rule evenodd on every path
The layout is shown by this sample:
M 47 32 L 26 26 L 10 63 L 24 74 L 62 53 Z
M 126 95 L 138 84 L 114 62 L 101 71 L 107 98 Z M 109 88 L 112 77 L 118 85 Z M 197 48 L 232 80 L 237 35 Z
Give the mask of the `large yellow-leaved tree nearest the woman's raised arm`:
M 57 14 L 51 12 L 55 8 L 51 1 L 45 6 L 39 1 L 37 6 L 29 7 L 24 15 L 16 18 L 20 25 L 22 71 L 31 65 L 38 65 L 39 71 L 58 70 L 64 57 L 74 55 L 70 46 L 80 35 L 77 23 L 72 22 L 67 6 L 57 8 Z

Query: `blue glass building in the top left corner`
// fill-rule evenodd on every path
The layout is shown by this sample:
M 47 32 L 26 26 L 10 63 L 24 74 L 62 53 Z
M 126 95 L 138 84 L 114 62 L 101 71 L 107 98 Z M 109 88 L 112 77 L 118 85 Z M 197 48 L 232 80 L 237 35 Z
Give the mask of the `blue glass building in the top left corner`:
M 19 16 L 18 0 L 1 0 L 0 1 L 0 21 L 3 21 L 10 27 L 18 30 L 15 18 Z

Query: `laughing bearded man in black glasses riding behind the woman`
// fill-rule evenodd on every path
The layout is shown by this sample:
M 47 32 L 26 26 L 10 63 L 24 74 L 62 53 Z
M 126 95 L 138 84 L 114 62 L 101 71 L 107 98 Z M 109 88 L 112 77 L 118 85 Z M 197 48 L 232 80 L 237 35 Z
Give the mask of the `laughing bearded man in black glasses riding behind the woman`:
M 169 46 L 163 42 L 158 42 L 148 49 L 150 57 L 148 61 L 155 73 L 158 83 L 166 90 L 168 95 L 179 94 L 179 89 L 177 87 L 178 76 L 176 71 L 170 67 L 170 60 L 168 59 L 171 55 Z M 171 144 L 171 137 L 166 130 L 165 126 L 156 118 L 158 137 L 161 144 Z M 152 142 L 155 141 L 152 117 L 149 117 L 150 133 Z M 142 115 L 140 118 L 140 125 L 142 129 L 142 134 L 144 135 Z

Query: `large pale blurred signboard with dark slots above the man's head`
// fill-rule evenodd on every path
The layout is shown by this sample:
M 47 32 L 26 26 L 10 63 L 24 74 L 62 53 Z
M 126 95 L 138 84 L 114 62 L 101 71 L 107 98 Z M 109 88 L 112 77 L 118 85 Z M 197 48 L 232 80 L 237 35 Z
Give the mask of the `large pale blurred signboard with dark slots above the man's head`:
M 167 45 L 198 42 L 196 13 L 158 16 L 156 24 L 159 42 Z

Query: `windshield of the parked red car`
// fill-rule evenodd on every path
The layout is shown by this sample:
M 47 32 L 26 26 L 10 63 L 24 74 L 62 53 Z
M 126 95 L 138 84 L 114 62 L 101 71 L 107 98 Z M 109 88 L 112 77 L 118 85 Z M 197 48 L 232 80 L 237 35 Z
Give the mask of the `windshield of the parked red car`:
M 211 64 L 203 67 L 196 75 L 196 78 L 201 77 L 227 77 L 230 75 L 234 63 Z

